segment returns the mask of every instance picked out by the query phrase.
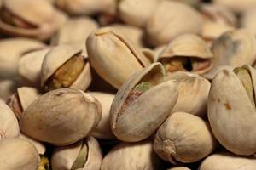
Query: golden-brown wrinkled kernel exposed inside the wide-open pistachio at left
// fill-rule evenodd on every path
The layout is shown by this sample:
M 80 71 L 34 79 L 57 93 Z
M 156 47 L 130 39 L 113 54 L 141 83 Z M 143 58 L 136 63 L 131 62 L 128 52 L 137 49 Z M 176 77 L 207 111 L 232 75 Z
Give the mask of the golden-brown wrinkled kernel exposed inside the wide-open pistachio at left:
M 86 59 L 79 52 L 66 63 L 61 65 L 55 73 L 44 83 L 44 91 L 48 92 L 57 88 L 68 88 L 77 80 L 84 70 Z

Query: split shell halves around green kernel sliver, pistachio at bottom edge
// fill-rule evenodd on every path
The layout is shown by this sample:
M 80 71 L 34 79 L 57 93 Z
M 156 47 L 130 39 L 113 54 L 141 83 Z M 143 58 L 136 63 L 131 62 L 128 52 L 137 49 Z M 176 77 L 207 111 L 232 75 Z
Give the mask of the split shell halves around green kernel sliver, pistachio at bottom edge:
M 102 150 L 93 137 L 89 136 L 82 141 L 63 147 L 56 147 L 52 157 L 51 166 L 53 170 L 71 170 L 79 156 L 80 150 L 84 150 L 86 160 L 81 170 L 100 170 L 102 164 Z M 77 168 L 73 170 L 78 170 Z

